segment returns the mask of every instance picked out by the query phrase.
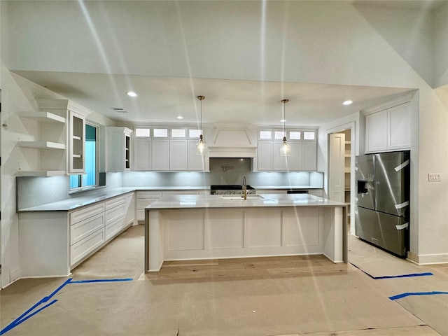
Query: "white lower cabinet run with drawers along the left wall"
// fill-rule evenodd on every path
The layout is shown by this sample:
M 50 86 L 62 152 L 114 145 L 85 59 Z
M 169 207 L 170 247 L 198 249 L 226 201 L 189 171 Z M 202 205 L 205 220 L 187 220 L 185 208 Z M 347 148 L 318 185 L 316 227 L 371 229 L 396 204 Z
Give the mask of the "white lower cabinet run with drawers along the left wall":
M 67 276 L 134 223 L 134 193 L 74 211 L 19 213 L 22 277 Z

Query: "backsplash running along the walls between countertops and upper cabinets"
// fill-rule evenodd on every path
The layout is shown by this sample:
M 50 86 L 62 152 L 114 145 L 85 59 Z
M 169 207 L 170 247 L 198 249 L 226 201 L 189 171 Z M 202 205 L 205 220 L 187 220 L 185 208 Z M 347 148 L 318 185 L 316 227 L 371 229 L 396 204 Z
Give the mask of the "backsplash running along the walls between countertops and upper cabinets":
M 210 172 L 125 172 L 107 173 L 106 189 L 120 187 L 209 187 L 213 184 L 241 184 L 246 176 L 249 186 L 314 186 L 323 188 L 321 172 L 251 172 L 250 158 L 212 158 Z M 104 189 L 69 194 L 69 176 L 18 177 L 18 209 L 85 197 Z

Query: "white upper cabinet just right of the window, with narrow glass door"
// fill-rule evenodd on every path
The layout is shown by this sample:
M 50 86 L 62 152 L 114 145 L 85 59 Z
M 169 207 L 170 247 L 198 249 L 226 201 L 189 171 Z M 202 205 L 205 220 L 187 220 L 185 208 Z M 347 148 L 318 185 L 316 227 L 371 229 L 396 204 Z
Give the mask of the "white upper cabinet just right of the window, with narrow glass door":
M 131 135 L 127 127 L 107 127 L 108 172 L 131 170 Z

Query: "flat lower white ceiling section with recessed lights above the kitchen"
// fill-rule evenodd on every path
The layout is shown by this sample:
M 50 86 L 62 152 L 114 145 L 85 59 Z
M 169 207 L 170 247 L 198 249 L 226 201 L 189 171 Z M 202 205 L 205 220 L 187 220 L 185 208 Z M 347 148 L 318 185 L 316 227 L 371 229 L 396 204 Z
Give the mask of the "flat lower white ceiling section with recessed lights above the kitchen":
M 203 123 L 318 126 L 386 102 L 407 88 L 253 80 L 167 78 L 95 73 L 15 71 L 20 76 L 62 94 L 119 123 L 198 123 L 202 101 Z M 134 90 L 138 97 L 128 97 Z M 346 99 L 350 106 L 342 105 Z M 118 113 L 122 108 L 127 113 Z M 183 120 L 177 119 L 183 116 Z

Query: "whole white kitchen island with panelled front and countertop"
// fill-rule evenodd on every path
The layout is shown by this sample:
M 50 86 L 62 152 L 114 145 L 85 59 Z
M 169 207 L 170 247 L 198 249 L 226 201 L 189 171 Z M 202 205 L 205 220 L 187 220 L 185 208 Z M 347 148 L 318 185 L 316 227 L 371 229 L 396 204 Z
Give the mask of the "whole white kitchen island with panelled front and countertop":
M 145 271 L 165 260 L 323 254 L 346 262 L 346 204 L 308 194 L 169 195 L 145 211 Z

